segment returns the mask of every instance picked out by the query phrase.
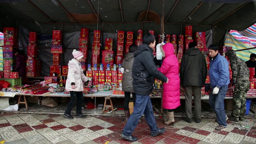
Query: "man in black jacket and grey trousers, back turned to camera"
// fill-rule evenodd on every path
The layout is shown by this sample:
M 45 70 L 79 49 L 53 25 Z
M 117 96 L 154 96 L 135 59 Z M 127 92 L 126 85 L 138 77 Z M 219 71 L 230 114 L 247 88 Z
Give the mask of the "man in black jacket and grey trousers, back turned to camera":
M 196 48 L 195 42 L 190 42 L 189 49 L 182 57 L 180 65 L 180 79 L 185 86 L 186 122 L 192 122 L 192 94 L 194 93 L 196 123 L 201 122 L 201 89 L 207 75 L 207 66 L 204 54 Z

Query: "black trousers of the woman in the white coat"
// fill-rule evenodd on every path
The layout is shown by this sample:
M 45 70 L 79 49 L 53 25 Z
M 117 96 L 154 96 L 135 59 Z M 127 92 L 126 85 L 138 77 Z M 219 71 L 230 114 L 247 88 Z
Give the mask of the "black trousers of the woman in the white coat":
M 71 110 L 73 108 L 75 100 L 76 100 L 76 115 L 82 114 L 82 105 L 84 102 L 83 92 L 74 92 L 74 91 L 70 92 L 70 101 L 65 111 L 66 114 L 68 115 L 71 114 Z

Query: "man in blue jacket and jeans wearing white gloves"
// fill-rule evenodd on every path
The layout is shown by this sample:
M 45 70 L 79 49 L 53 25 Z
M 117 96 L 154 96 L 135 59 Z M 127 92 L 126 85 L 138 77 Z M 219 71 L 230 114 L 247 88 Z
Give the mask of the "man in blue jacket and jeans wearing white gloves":
M 215 130 L 227 128 L 226 114 L 224 109 L 224 99 L 228 91 L 229 69 L 228 60 L 220 55 L 219 47 L 212 44 L 208 47 L 210 54 L 210 92 L 209 103 L 215 110 L 219 126 Z

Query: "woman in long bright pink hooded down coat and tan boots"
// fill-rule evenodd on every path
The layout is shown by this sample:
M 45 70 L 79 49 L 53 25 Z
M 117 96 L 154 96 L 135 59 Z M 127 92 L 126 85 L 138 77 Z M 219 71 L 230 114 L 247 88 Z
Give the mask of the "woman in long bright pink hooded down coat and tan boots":
M 174 55 L 174 48 L 171 43 L 160 46 L 164 60 L 162 66 L 158 68 L 169 80 L 163 86 L 163 108 L 167 109 L 167 116 L 164 124 L 170 125 L 174 123 L 174 109 L 180 106 L 180 76 L 179 62 Z

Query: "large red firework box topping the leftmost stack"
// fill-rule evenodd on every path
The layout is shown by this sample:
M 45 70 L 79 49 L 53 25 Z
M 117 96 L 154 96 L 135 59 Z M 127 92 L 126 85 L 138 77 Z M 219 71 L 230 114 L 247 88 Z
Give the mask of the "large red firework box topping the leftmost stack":
M 4 45 L 18 46 L 18 29 L 4 28 Z

